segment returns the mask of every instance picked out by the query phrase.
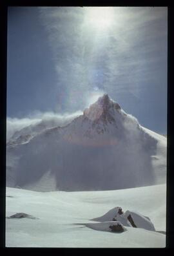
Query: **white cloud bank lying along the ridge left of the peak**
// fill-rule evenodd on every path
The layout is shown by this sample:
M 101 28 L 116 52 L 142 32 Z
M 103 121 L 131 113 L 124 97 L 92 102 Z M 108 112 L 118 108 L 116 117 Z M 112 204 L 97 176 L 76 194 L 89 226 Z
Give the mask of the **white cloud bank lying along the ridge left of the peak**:
M 35 111 L 29 114 L 26 118 L 6 118 L 6 140 L 8 141 L 17 131 L 29 125 L 40 123 L 43 129 L 64 126 L 70 123 L 75 117 L 81 115 L 81 111 L 73 113 L 57 114 L 55 112 Z

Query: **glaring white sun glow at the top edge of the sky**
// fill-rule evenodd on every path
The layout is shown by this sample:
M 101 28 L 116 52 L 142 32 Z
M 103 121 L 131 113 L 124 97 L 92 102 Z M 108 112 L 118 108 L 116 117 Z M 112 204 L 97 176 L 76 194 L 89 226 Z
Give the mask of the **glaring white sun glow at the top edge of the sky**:
M 86 7 L 85 23 L 97 30 L 105 30 L 113 23 L 113 7 Z

